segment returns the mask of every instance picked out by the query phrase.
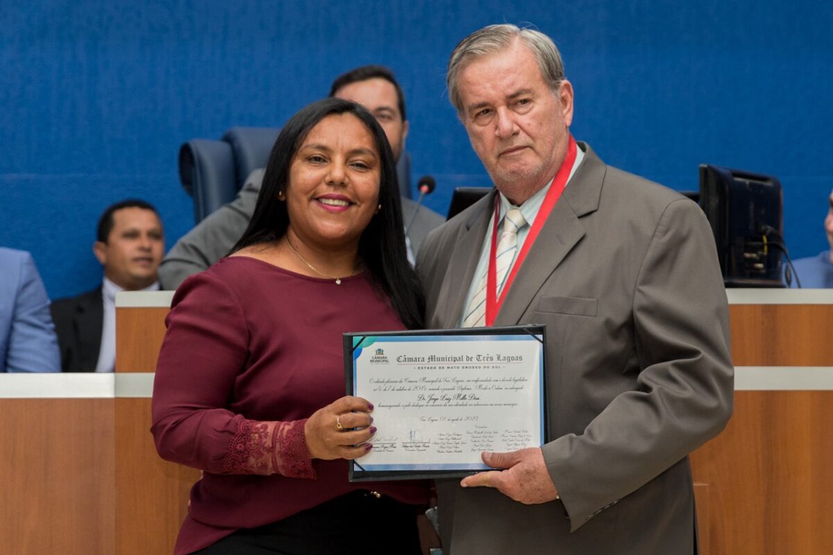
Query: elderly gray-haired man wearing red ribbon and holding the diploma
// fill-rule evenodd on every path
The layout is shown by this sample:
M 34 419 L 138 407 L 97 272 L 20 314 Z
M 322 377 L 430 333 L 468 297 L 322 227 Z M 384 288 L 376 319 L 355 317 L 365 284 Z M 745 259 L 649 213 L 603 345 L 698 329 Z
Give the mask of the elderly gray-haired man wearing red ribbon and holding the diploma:
M 423 244 L 426 325 L 546 325 L 551 437 L 437 484 L 446 555 L 696 553 L 688 454 L 726 425 L 734 374 L 705 216 L 572 139 L 541 32 L 474 32 L 447 85 L 496 191 Z

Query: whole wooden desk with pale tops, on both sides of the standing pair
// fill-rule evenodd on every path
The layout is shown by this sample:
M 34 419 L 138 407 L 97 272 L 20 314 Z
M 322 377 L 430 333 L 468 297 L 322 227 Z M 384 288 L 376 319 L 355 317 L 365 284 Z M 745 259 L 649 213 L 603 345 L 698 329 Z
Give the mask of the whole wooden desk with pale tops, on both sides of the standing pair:
M 199 473 L 149 432 L 170 296 L 117 297 L 116 374 L 0 374 L 4 553 L 171 553 Z M 691 456 L 701 553 L 833 553 L 833 290 L 729 297 L 735 414 Z

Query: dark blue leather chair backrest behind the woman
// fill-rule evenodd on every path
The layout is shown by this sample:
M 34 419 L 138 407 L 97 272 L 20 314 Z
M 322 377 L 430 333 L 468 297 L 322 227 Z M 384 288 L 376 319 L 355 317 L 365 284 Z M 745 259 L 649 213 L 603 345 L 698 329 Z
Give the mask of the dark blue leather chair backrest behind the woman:
M 220 141 L 192 139 L 179 148 L 179 181 L 194 199 L 194 221 L 199 222 L 231 202 L 252 171 L 269 161 L 281 130 L 277 127 L 232 127 Z M 402 152 L 397 164 L 399 190 L 411 195 L 411 155 Z

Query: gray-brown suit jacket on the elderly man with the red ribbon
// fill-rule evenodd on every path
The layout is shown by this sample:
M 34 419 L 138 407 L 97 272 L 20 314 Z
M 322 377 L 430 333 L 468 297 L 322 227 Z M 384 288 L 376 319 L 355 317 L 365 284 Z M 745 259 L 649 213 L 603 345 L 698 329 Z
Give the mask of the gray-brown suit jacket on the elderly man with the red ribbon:
M 726 425 L 734 374 L 714 238 L 695 203 L 582 147 L 495 321 L 546 325 L 542 450 L 561 500 L 439 483 L 451 555 L 696 549 L 687 455 Z M 494 200 L 420 250 L 428 327 L 456 325 Z

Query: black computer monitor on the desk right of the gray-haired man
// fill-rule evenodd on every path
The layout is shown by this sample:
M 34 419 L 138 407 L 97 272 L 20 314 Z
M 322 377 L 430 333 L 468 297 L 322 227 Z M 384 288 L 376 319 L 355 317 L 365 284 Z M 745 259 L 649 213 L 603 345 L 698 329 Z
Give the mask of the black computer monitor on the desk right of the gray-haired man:
M 701 164 L 700 206 L 715 235 L 726 287 L 784 287 L 781 181 Z

